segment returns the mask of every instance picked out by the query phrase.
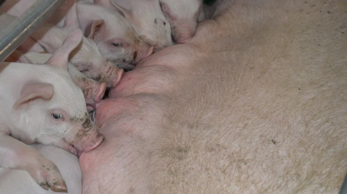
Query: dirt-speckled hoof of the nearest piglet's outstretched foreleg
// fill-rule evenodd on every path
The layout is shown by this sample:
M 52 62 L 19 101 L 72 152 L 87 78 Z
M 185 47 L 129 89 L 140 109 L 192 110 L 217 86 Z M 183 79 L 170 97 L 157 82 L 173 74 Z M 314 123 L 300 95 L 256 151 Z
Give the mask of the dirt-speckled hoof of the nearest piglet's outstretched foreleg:
M 41 162 L 40 167 L 36 167 L 28 172 L 42 188 L 46 190 L 51 188 L 54 192 L 68 192 L 66 183 L 62 178 L 58 167 L 50 160 L 44 159 L 44 161 Z

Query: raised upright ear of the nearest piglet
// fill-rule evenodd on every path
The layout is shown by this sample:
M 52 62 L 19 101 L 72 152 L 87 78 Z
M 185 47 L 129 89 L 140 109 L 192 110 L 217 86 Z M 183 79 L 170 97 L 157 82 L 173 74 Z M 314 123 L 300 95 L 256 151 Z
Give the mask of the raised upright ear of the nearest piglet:
M 54 65 L 67 69 L 69 55 L 82 41 L 81 29 L 76 29 L 71 34 L 67 35 L 61 47 L 53 53 L 51 58 L 45 64 Z

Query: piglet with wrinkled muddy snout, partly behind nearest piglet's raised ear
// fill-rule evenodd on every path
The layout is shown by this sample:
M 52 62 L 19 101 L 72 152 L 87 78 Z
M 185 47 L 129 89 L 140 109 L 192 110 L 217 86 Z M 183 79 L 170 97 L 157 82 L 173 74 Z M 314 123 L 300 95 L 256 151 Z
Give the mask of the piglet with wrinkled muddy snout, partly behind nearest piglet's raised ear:
M 67 12 L 63 27 L 43 23 L 30 35 L 30 38 L 36 41 L 38 46 L 44 47 L 48 53 L 55 52 L 61 47 L 65 37 L 79 28 L 76 6 L 75 3 Z M 6 15 L 9 14 L 3 13 L 1 17 Z M 15 16 L 12 17 L 16 19 Z M 19 49 L 19 51 L 26 53 L 28 50 Z M 83 37 L 82 42 L 71 52 L 69 61 L 88 78 L 106 82 L 108 87 L 115 86 L 116 80 L 119 80 L 124 72 L 123 69 L 117 68 L 114 63 L 108 61 L 96 43 L 86 37 Z

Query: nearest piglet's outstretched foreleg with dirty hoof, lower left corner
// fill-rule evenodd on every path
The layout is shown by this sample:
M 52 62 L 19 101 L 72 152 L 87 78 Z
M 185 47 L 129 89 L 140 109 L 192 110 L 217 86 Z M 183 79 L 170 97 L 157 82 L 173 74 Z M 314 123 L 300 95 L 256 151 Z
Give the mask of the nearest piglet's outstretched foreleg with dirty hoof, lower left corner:
M 52 161 L 29 145 L 3 133 L 0 133 L 0 166 L 26 170 L 42 188 L 67 193 L 65 181 Z

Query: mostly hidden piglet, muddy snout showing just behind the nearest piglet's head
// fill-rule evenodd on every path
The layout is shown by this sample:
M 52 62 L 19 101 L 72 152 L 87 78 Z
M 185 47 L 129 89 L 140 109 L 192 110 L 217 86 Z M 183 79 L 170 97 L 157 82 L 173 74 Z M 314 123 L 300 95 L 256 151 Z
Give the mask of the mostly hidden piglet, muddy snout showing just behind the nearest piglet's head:
M 36 53 L 29 52 L 25 55 L 22 55 L 24 59 L 28 59 L 33 62 L 33 64 L 44 64 L 52 54 L 50 53 Z M 74 83 L 82 89 L 84 99 L 87 106 L 93 107 L 96 103 L 99 103 L 103 98 L 106 90 L 105 82 L 98 82 L 93 79 L 88 78 L 85 74 L 81 73 L 72 63 L 68 63 L 68 73 Z M 120 79 L 120 76 L 117 78 Z M 119 80 L 116 80 L 118 82 Z

